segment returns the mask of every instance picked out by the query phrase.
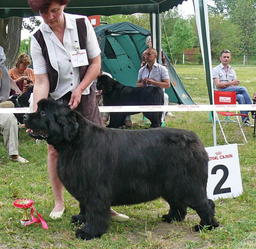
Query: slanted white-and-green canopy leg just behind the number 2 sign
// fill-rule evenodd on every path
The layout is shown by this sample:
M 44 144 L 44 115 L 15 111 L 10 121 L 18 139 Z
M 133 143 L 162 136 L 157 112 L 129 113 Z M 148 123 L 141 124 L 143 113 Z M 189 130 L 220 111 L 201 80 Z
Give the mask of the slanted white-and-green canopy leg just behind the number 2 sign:
M 195 8 L 196 26 L 198 29 L 200 47 L 201 47 L 202 57 L 204 61 L 204 71 L 206 75 L 208 95 L 210 99 L 210 104 L 214 105 L 214 89 L 213 89 L 213 83 L 212 83 L 212 56 L 211 56 L 211 48 L 210 48 L 210 31 L 209 31 L 207 4 L 206 4 L 206 0 L 194 0 L 193 2 L 194 2 L 194 8 Z M 216 146 L 217 141 L 216 141 L 215 115 L 213 115 L 213 119 L 212 119 L 212 129 L 213 129 L 213 142 L 214 142 L 214 146 Z

